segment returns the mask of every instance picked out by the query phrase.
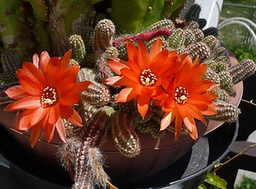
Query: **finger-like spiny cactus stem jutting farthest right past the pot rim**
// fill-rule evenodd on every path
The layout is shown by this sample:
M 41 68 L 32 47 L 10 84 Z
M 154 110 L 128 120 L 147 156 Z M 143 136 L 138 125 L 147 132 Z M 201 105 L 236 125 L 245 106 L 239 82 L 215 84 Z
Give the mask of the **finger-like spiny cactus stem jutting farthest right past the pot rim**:
M 229 67 L 228 72 L 232 82 L 236 84 L 253 75 L 256 72 L 256 64 L 252 59 L 244 59 L 239 64 Z

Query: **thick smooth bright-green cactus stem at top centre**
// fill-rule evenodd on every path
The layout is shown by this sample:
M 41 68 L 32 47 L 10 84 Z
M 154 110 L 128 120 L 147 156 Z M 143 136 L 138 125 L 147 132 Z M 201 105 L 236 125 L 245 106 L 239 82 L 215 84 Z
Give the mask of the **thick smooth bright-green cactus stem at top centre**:
M 110 18 L 118 33 L 139 33 L 164 18 L 164 0 L 112 0 Z

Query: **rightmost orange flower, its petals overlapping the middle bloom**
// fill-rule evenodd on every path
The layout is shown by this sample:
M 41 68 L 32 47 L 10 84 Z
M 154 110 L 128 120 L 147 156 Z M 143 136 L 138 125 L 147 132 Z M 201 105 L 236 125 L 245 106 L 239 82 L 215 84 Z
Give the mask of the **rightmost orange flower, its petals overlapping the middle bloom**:
M 209 80 L 202 80 L 206 73 L 206 64 L 199 64 L 199 59 L 192 63 L 187 56 L 180 69 L 173 78 L 164 99 L 157 102 L 165 112 L 161 120 L 160 130 L 164 130 L 175 120 L 175 138 L 178 139 L 183 123 L 187 127 L 192 139 L 197 139 L 197 125 L 194 119 L 205 121 L 203 116 L 216 115 L 216 94 L 211 89 L 217 86 Z

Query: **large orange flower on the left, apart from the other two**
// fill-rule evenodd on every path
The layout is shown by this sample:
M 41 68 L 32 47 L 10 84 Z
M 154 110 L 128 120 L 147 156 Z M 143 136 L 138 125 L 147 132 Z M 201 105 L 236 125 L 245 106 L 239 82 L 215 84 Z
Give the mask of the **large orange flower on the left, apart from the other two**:
M 17 69 L 20 85 L 9 87 L 8 97 L 17 100 L 5 106 L 5 111 L 22 110 L 16 121 L 16 129 L 31 129 L 31 147 L 36 144 L 41 130 L 50 142 L 55 130 L 59 138 L 66 139 L 64 123 L 61 118 L 73 125 L 82 126 L 82 119 L 73 109 L 79 101 L 79 93 L 85 90 L 90 82 L 77 83 L 76 75 L 79 66 L 68 67 L 71 50 L 63 59 L 50 58 L 44 51 L 33 56 L 33 64 L 24 62 L 22 69 Z

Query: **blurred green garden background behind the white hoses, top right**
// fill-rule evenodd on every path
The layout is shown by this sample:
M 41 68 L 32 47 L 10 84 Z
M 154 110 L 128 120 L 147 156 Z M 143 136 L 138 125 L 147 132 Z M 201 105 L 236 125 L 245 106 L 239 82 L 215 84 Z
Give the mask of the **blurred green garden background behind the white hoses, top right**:
M 256 0 L 224 0 L 219 23 L 230 17 L 245 17 L 255 23 Z M 256 33 L 256 29 L 252 29 Z M 225 26 L 220 29 L 219 37 L 238 60 L 256 60 L 256 41 L 244 26 L 239 24 Z

